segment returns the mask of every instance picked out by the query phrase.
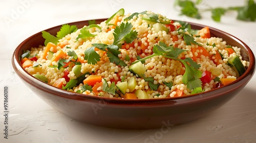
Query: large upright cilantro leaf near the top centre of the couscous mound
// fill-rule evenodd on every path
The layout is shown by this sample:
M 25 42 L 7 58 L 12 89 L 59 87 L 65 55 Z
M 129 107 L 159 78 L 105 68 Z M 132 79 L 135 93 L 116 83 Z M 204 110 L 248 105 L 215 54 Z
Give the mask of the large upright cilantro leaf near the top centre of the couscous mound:
M 120 26 L 117 26 L 114 30 L 114 45 L 121 47 L 123 42 L 131 43 L 135 38 L 137 38 L 137 31 L 132 30 L 133 25 L 129 22 L 122 22 Z

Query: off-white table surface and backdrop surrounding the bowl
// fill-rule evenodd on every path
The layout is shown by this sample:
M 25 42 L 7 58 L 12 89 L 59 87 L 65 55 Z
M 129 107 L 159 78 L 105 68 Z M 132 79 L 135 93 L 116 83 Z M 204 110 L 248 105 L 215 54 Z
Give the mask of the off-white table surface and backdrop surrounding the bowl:
M 204 0 L 208 6 L 241 6 L 243 1 Z M 60 114 L 39 99 L 14 73 L 11 56 L 29 36 L 64 23 L 106 18 L 120 8 L 125 13 L 151 10 L 170 19 L 193 21 L 230 33 L 256 53 L 256 22 L 236 19 L 227 13 L 222 21 L 180 16 L 173 1 L 0 1 L 0 142 L 256 142 L 256 77 L 232 100 L 198 121 L 170 128 L 120 130 L 81 123 Z M 8 139 L 4 138 L 4 87 L 9 87 Z

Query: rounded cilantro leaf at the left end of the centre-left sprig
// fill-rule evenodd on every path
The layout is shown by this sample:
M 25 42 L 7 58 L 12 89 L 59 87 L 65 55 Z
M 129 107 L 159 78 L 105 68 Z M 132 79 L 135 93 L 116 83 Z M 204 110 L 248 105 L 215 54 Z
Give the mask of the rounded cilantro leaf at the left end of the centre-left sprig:
M 84 60 L 87 60 L 89 64 L 96 64 L 100 61 L 99 54 L 94 50 L 95 46 L 88 47 L 84 51 Z

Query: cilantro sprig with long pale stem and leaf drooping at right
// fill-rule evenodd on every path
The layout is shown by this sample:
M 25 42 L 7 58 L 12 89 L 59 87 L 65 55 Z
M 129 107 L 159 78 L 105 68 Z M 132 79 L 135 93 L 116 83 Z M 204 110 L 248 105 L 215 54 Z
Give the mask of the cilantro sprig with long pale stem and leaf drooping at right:
M 190 90 L 201 87 L 202 82 L 200 78 L 202 77 L 202 72 L 198 70 L 201 65 L 197 64 L 191 58 L 178 59 L 178 56 L 185 51 L 186 50 L 174 48 L 173 46 L 167 46 L 164 42 L 159 42 L 159 44 L 156 44 L 153 47 L 154 54 L 134 61 L 132 64 L 139 61 L 145 61 L 146 59 L 155 56 L 163 56 L 169 59 L 178 60 L 185 66 L 185 73 L 183 75 L 182 82 L 186 84 Z

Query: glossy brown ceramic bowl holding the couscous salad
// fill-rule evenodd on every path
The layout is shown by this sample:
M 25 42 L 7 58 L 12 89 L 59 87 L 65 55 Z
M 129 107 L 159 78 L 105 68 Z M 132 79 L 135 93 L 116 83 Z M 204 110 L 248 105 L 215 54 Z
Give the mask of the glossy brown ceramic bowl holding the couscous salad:
M 105 19 L 96 20 L 98 23 Z M 78 28 L 88 21 L 69 23 Z M 193 29 L 205 26 L 190 23 Z M 61 26 L 45 31 L 56 34 Z M 182 98 L 123 100 L 62 90 L 41 82 L 27 73 L 19 62 L 23 51 L 44 44 L 41 32 L 20 43 L 13 53 L 12 65 L 17 75 L 43 101 L 73 119 L 89 124 L 123 129 L 151 129 L 174 126 L 198 120 L 216 110 L 239 93 L 249 82 L 255 70 L 255 58 L 243 41 L 218 29 L 210 28 L 211 36 L 222 37 L 227 44 L 242 47 L 243 57 L 250 62 L 246 72 L 236 81 L 211 91 Z

